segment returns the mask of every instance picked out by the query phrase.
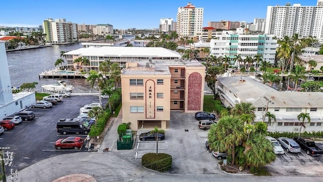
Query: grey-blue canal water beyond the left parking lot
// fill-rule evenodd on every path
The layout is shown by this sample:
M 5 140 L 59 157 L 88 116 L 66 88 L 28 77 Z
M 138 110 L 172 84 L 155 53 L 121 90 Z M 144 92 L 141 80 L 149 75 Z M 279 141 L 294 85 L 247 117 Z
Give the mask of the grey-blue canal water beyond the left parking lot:
M 8 65 L 11 84 L 13 87 L 19 87 L 23 83 L 38 82 L 37 92 L 41 91 L 41 85 L 57 83 L 58 80 L 65 80 L 68 84 L 74 86 L 74 93 L 97 93 L 90 84 L 84 79 L 44 79 L 38 77 L 38 74 L 55 69 L 54 63 L 60 58 L 61 51 L 72 51 L 82 48 L 81 43 L 66 45 L 52 45 L 51 47 L 8 52 Z M 62 58 L 64 59 L 64 58 Z M 65 60 L 65 59 L 64 59 Z M 66 60 L 63 65 L 66 65 Z

